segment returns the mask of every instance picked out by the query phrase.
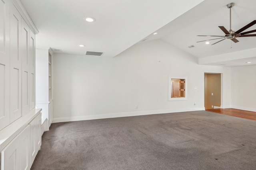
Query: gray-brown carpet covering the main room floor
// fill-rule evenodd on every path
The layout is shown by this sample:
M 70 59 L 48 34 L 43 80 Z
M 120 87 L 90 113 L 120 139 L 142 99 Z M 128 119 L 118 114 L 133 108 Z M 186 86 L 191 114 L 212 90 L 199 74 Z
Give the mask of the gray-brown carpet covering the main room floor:
M 256 170 L 256 121 L 191 111 L 53 123 L 32 170 Z

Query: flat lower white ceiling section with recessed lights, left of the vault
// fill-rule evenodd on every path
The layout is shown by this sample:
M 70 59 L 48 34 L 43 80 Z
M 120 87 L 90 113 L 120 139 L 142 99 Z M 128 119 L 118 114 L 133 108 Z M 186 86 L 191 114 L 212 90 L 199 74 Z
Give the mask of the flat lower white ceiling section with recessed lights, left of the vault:
M 202 1 L 21 0 L 39 30 L 37 46 L 77 55 L 103 52 L 102 57 L 115 57 Z

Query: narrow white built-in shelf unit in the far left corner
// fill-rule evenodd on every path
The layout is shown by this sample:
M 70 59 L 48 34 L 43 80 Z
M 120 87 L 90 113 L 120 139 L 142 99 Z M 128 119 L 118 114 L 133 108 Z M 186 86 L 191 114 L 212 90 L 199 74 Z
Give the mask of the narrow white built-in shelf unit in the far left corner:
M 53 118 L 52 55 L 50 47 L 36 47 L 36 107 L 42 108 L 46 131 Z

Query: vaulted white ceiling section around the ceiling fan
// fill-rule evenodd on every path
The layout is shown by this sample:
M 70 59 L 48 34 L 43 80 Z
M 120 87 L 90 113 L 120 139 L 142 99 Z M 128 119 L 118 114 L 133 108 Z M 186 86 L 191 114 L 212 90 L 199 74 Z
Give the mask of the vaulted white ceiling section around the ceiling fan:
M 199 62 L 202 64 L 222 66 L 256 64 L 256 37 L 238 37 L 238 43 L 234 43 L 229 39 L 225 39 L 215 45 L 211 44 L 219 41 L 218 39 L 209 41 L 210 44 L 208 45 L 205 42 L 196 43 L 197 41 L 215 38 L 197 37 L 196 35 L 225 35 L 218 26 L 224 26 L 227 30 L 230 29 L 229 9 L 226 5 L 231 2 L 234 2 L 234 7 L 231 9 L 233 31 L 236 31 L 253 20 L 256 20 L 256 0 L 205 0 L 182 16 L 157 30 L 157 36 L 149 35 L 145 39 L 147 39 L 146 41 L 163 39 L 183 51 L 198 57 L 199 61 L 200 58 L 209 59 L 209 62 Z M 256 29 L 256 24 L 248 28 L 246 31 L 254 29 Z M 252 34 L 256 34 L 256 32 Z M 195 47 L 188 48 L 191 45 L 194 45 Z M 251 53 L 243 53 L 243 55 L 239 53 L 239 51 L 247 49 L 254 50 Z M 227 53 L 239 56 L 234 58 L 232 58 L 232 56 L 226 57 Z M 214 62 L 214 58 L 216 57 L 222 57 L 223 60 Z M 251 61 L 252 63 L 247 64 L 245 61 Z

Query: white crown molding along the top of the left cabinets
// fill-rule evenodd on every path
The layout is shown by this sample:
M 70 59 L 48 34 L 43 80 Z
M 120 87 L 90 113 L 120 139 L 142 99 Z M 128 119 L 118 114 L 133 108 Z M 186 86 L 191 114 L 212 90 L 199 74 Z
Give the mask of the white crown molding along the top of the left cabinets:
M 28 26 L 30 27 L 30 29 L 33 31 L 34 34 L 38 34 L 39 31 L 36 28 L 36 25 L 34 25 L 33 21 L 31 20 L 30 16 L 28 15 L 26 9 L 24 8 L 24 6 L 22 5 L 22 3 L 20 2 L 20 0 L 12 0 L 12 3 L 14 4 L 14 6 L 16 7 L 16 9 L 18 10 L 18 12 L 20 13 L 20 15 L 22 16 L 22 18 L 26 21 L 26 23 L 28 24 Z

